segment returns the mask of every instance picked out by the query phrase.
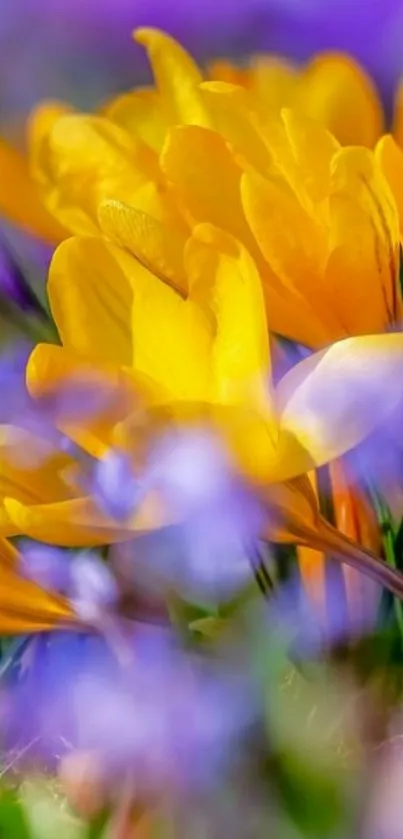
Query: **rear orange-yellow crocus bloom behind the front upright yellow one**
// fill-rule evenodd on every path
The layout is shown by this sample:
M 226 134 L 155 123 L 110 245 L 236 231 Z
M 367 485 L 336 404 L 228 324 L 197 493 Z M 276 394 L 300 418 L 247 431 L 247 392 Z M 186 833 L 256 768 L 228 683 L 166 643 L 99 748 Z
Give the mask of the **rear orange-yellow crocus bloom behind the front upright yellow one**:
M 48 210 L 66 229 L 106 235 L 184 283 L 190 231 L 209 222 L 253 256 L 273 332 L 307 346 L 382 332 L 401 319 L 399 221 L 369 149 L 341 148 L 295 110 L 273 115 L 250 91 L 203 83 L 172 38 L 140 30 L 157 88 L 104 114 L 45 106 L 31 159 Z M 120 201 L 128 216 L 105 209 Z M 170 235 L 165 235 L 169 229 Z

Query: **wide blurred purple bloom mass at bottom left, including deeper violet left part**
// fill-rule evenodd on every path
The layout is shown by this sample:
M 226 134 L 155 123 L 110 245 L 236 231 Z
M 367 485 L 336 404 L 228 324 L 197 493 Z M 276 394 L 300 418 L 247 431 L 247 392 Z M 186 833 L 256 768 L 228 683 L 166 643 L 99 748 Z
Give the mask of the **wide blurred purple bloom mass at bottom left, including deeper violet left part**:
M 136 792 L 214 787 L 256 713 L 246 677 L 180 651 L 172 636 L 136 630 L 129 667 L 98 637 L 57 633 L 22 645 L 3 672 L 8 750 L 52 764 L 94 753 L 113 787 Z M 26 753 L 27 755 L 27 753 Z

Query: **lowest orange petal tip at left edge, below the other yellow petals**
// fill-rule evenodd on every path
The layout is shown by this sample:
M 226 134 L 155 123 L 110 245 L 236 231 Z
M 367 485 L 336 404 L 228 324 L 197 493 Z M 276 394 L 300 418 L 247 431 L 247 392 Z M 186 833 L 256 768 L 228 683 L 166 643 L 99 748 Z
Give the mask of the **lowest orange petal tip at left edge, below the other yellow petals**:
M 18 572 L 18 553 L 0 540 L 0 632 L 17 635 L 66 627 L 74 620 L 72 609 Z

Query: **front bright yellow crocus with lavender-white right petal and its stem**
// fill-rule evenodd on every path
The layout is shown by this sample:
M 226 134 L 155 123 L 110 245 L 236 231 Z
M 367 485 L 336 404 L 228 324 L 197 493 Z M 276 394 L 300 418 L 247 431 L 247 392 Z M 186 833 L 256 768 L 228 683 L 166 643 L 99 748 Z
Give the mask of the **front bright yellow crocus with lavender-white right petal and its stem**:
M 109 416 L 90 430 L 63 416 L 59 424 L 93 457 L 127 446 L 140 474 L 161 430 L 206 424 L 265 505 L 266 538 L 331 550 L 400 592 L 398 576 L 320 517 L 304 476 L 356 445 L 398 403 L 390 382 L 401 370 L 403 337 L 338 342 L 273 387 L 262 286 L 245 247 L 199 225 L 186 243 L 184 270 L 187 296 L 100 237 L 60 245 L 49 296 L 63 346 L 34 350 L 27 371 L 33 397 L 84 380 L 89 370 L 100 381 L 119 379 L 123 420 Z M 371 410 L 363 410 L 367 398 Z M 140 421 L 139 408 L 147 412 Z M 122 524 L 102 514 L 79 481 L 68 500 L 8 498 L 4 506 L 21 532 L 64 545 L 126 540 L 174 523 L 158 490 Z

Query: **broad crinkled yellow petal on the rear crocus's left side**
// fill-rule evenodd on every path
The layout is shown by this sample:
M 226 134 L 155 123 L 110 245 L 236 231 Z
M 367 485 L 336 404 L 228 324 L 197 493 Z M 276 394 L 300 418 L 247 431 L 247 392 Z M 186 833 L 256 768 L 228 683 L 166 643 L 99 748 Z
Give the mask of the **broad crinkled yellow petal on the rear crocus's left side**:
M 54 123 L 43 139 L 40 161 L 38 182 L 46 206 L 69 230 L 83 235 L 97 234 L 102 201 L 149 201 L 137 193 L 158 178 L 157 157 L 141 140 L 103 117 L 86 114 L 62 116 Z

